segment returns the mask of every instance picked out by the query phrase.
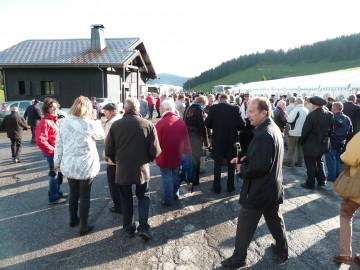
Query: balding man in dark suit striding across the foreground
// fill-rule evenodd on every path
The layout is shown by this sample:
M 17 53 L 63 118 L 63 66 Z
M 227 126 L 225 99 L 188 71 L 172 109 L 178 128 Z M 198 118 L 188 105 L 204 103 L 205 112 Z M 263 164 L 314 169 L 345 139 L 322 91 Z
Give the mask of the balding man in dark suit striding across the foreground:
M 247 249 L 262 215 L 276 241 L 271 249 L 282 260 L 288 259 L 285 224 L 279 209 L 284 200 L 282 134 L 271 120 L 271 104 L 267 98 L 252 99 L 248 115 L 251 125 L 255 127 L 254 137 L 246 156 L 231 160 L 238 163 L 237 170 L 244 181 L 240 193 L 235 250 L 230 258 L 221 262 L 226 269 L 246 265 Z

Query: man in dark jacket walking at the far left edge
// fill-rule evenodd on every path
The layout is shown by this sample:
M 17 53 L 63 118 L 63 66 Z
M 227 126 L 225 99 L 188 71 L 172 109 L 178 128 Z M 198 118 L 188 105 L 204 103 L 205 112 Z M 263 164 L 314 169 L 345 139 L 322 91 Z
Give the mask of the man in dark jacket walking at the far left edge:
M 5 116 L 0 130 L 6 130 L 7 136 L 11 140 L 11 156 L 15 163 L 20 162 L 22 135 L 23 130 L 26 129 L 27 124 L 25 119 L 19 115 L 18 107 L 12 107 L 11 114 Z

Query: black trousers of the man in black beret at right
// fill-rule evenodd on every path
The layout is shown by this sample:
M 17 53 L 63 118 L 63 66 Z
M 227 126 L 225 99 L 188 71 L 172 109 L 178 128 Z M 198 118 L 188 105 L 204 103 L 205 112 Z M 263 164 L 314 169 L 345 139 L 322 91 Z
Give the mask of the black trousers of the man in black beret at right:
M 315 179 L 318 185 L 324 185 L 326 183 L 326 174 L 324 168 L 323 155 L 316 157 L 304 156 L 307 180 L 306 184 L 309 187 L 315 187 Z

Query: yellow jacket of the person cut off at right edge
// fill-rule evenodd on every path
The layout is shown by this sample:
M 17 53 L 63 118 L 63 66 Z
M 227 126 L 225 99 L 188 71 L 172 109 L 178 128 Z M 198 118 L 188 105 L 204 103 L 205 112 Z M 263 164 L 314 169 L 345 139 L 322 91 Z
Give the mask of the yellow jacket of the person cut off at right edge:
M 350 166 L 350 176 L 360 170 L 360 132 L 348 142 L 345 152 L 340 156 L 341 160 Z M 360 203 L 360 198 L 351 198 L 351 200 Z

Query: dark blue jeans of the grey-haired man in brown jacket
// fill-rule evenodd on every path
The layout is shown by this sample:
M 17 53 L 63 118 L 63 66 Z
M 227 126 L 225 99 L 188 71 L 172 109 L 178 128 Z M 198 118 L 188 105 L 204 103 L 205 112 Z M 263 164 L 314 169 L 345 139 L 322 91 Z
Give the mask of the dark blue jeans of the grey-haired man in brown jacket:
M 120 191 L 121 208 L 123 211 L 123 228 L 130 233 L 136 230 L 134 221 L 134 203 L 132 194 L 132 185 L 118 185 Z M 150 198 L 148 196 L 149 182 L 144 184 L 136 184 L 136 197 L 138 198 L 139 211 L 139 227 L 138 231 L 146 231 L 150 229 L 148 223 Z

